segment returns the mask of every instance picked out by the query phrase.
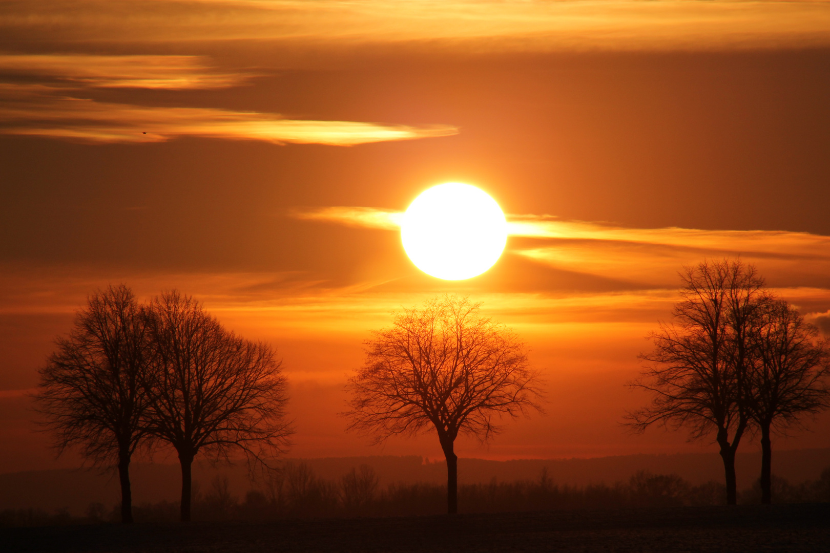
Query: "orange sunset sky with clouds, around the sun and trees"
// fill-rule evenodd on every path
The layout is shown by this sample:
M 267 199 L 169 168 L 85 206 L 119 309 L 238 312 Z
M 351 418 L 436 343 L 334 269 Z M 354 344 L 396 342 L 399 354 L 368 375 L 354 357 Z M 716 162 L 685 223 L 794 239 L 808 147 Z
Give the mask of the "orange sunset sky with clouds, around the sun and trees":
M 28 394 L 120 283 L 276 347 L 291 456 L 442 457 L 339 415 L 371 331 L 442 293 L 513 328 L 545 382 L 544 415 L 461 457 L 714 450 L 628 432 L 649 398 L 626 383 L 705 259 L 740 255 L 830 334 L 828 96 L 828 2 L 2 2 L 0 472 L 78 463 Z M 442 182 L 507 215 L 472 279 L 401 245 Z M 830 447 L 830 415 L 807 422 L 774 446 Z

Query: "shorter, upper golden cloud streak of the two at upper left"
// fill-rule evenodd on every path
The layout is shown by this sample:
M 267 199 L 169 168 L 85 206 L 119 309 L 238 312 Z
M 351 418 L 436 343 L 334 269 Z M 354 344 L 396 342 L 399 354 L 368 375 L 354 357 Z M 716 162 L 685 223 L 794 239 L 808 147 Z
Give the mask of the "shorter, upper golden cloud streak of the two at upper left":
M 212 89 L 252 74 L 219 71 L 204 56 L 0 55 L 0 73 L 97 88 Z

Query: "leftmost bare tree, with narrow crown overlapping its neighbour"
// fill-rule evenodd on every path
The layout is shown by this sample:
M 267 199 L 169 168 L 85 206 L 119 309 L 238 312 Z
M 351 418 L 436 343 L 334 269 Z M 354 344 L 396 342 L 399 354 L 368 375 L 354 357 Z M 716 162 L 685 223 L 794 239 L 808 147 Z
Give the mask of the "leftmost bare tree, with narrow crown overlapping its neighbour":
M 90 295 L 69 336 L 56 345 L 35 396 L 43 424 L 59 452 L 79 446 L 95 466 L 118 467 L 121 520 L 132 522 L 129 462 L 147 437 L 147 336 L 132 291 L 120 284 Z

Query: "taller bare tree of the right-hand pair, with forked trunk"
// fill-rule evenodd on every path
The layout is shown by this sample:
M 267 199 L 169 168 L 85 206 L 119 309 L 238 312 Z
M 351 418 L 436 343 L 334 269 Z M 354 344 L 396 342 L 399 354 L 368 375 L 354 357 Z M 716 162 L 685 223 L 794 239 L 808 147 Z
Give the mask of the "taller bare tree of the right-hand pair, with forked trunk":
M 734 505 L 735 452 L 749 424 L 749 337 L 769 293 L 754 267 L 740 260 L 704 261 L 687 267 L 681 279 L 675 321 L 651 335 L 654 350 L 641 356 L 649 365 L 630 385 L 651 391 L 652 405 L 629 413 L 628 424 L 639 431 L 655 423 L 686 427 L 691 439 L 715 433 L 727 502 Z

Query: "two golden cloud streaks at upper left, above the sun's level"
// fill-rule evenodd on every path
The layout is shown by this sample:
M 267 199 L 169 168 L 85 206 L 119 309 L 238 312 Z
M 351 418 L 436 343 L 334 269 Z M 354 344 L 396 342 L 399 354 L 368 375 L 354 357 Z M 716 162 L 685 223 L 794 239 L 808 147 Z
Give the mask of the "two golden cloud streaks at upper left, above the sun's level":
M 73 97 L 85 88 L 208 89 L 240 85 L 203 56 L 0 56 L 0 133 L 90 143 L 162 142 L 181 136 L 332 146 L 456 134 L 450 125 L 412 127 L 284 119 L 218 108 L 154 107 Z M 21 82 L 22 80 L 22 82 Z

